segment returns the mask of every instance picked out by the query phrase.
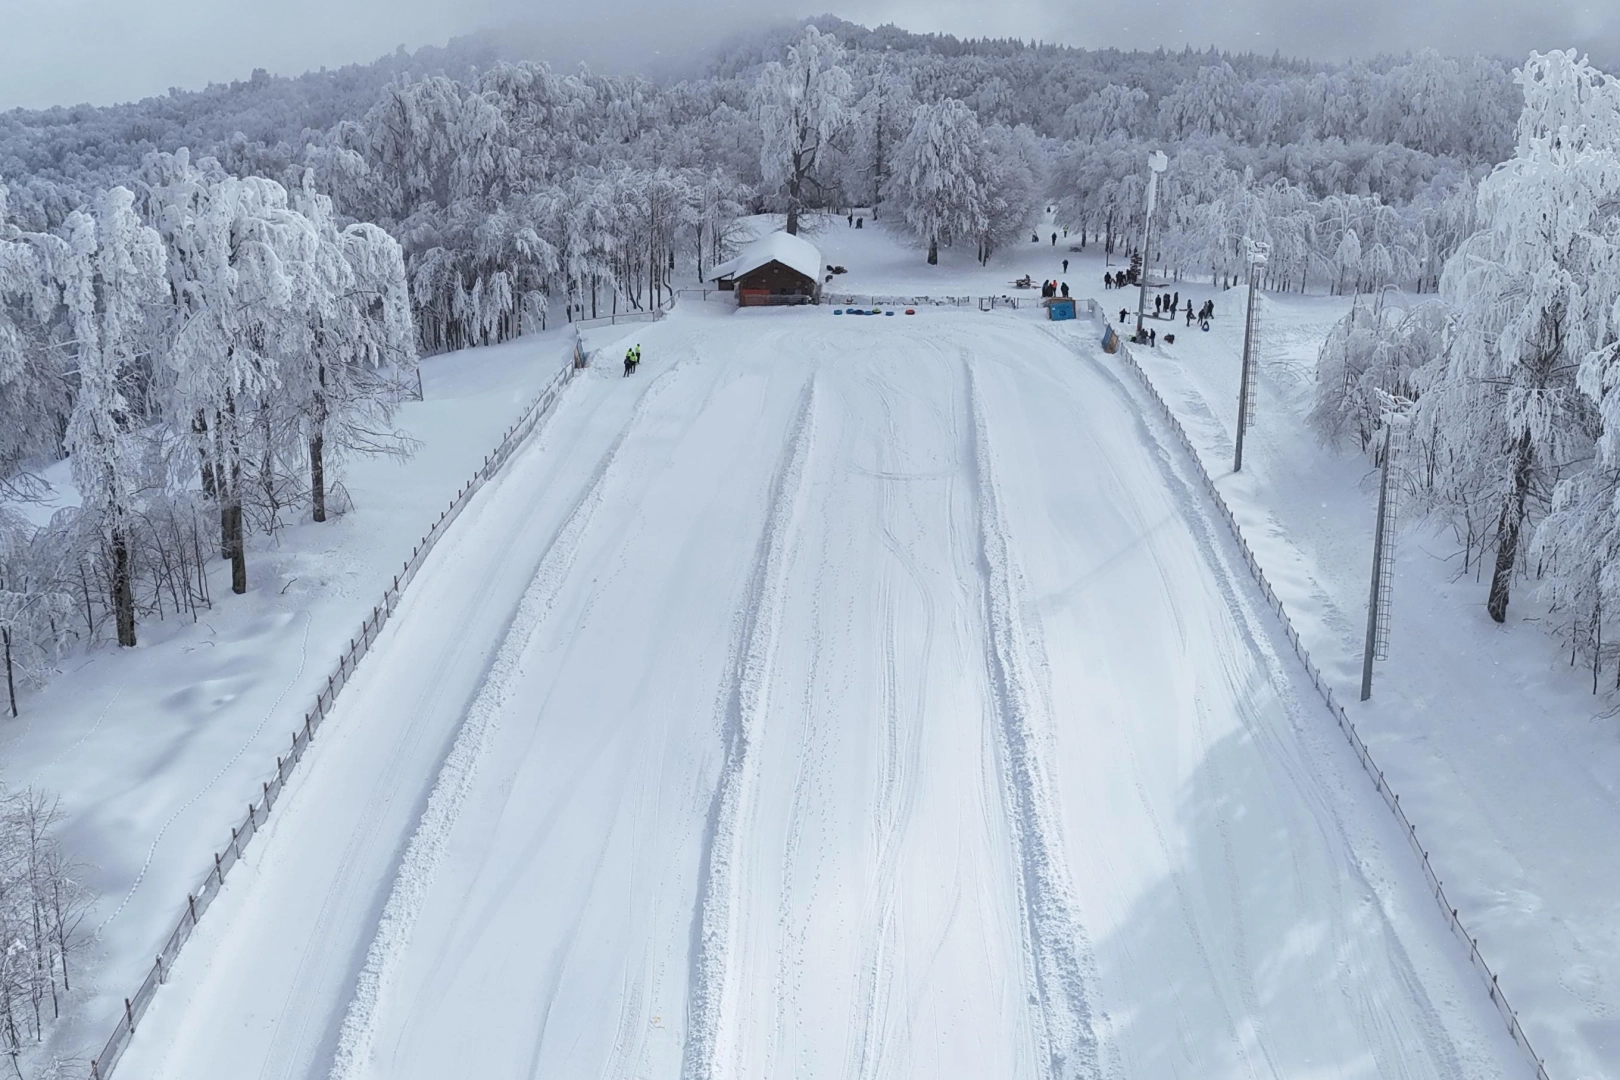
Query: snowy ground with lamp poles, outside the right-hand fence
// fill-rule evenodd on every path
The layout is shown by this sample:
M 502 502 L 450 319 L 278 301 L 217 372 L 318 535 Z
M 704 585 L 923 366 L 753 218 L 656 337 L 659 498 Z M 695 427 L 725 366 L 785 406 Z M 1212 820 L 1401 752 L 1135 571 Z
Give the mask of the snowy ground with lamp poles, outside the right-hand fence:
M 1202 300 L 1209 290 L 1196 290 Z M 1105 295 L 1110 296 L 1110 295 Z M 1137 356 L 1192 440 L 1343 701 L 1361 682 L 1371 463 L 1304 423 L 1345 298 L 1268 296 L 1256 421 L 1231 473 L 1243 293 L 1230 317 Z M 1390 659 L 1353 706 L 1554 1077 L 1620 1077 L 1620 740 L 1612 698 L 1545 633 L 1534 583 L 1484 610 L 1460 546 L 1408 515 Z

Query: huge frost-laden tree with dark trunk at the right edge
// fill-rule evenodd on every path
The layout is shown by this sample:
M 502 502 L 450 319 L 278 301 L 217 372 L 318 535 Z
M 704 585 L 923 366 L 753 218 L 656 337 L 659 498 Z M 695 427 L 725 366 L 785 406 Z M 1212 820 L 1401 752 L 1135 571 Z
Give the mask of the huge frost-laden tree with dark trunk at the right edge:
M 1620 300 L 1620 83 L 1562 52 L 1516 78 L 1518 146 L 1481 181 L 1479 232 L 1447 262 L 1455 334 L 1419 403 L 1443 468 L 1479 474 L 1494 504 L 1497 622 L 1534 504 L 1589 457 L 1612 410 Z

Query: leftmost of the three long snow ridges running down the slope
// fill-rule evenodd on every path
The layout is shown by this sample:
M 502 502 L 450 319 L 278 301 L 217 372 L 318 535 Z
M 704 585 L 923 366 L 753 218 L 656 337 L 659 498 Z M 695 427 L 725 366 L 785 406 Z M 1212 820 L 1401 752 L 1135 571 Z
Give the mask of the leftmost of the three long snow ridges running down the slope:
M 416 915 L 444 860 L 450 831 L 455 827 L 468 790 L 471 790 L 484 748 L 494 735 L 496 717 L 518 675 L 523 651 L 544 625 L 546 615 L 573 567 L 580 541 L 596 517 L 596 508 L 603 502 L 603 492 L 616 471 L 624 444 L 646 415 L 648 405 L 659 397 L 661 387 L 677 371 L 680 371 L 679 366 L 666 369 L 642 395 L 629 423 L 608 447 L 608 453 L 591 471 L 585 491 L 546 546 L 539 568 L 518 602 L 517 614 L 507 627 L 494 661 L 484 672 L 478 695 L 473 698 L 450 753 L 441 766 L 439 777 L 428 797 L 428 806 L 395 873 L 394 889 L 382 908 L 377 933 L 366 950 L 364 967 L 343 1015 L 329 1074 L 330 1080 L 353 1080 L 364 1070 L 390 976 L 410 942 Z

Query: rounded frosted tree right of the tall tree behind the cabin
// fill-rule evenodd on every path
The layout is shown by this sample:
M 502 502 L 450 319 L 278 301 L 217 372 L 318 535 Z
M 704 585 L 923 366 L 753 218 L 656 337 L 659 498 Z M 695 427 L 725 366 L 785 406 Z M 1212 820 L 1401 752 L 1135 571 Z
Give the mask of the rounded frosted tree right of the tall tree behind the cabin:
M 894 159 L 889 198 L 906 223 L 940 261 L 940 244 L 980 236 L 988 227 L 983 189 L 983 136 L 974 112 L 959 100 L 922 105 Z

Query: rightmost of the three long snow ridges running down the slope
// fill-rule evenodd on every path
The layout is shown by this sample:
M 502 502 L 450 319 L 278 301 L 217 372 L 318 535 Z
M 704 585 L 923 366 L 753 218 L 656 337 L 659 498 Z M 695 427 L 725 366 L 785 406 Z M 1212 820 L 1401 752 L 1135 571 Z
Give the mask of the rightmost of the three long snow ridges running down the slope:
M 1051 1080 L 1100 1077 L 1097 1035 L 1085 996 L 1084 929 L 1074 887 L 1064 865 L 1063 839 L 1051 806 L 1055 782 L 1042 761 L 1042 730 L 1025 628 L 1017 619 L 1019 572 L 1001 517 L 990 445 L 990 427 L 972 364 L 967 402 L 972 413 L 972 455 L 978 508 L 978 568 L 987 620 L 985 665 L 996 711 L 998 776 L 1019 866 L 1017 900 L 1025 933 L 1025 981 L 1038 1006 L 1040 1056 Z

